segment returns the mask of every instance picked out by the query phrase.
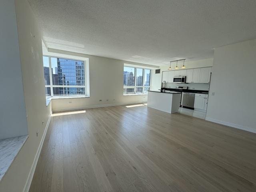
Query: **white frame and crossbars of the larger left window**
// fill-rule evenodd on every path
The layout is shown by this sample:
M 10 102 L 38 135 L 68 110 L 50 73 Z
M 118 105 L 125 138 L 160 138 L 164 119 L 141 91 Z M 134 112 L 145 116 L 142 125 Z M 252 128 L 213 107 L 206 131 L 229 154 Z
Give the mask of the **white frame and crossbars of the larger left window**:
M 51 98 L 81 98 L 81 97 L 89 97 L 88 94 L 88 85 L 87 85 L 87 63 L 86 60 L 76 59 L 76 58 L 68 58 L 62 56 L 54 56 L 54 55 L 43 55 L 43 57 L 48 57 L 49 62 L 49 76 L 50 76 L 50 85 L 45 85 L 45 88 L 50 88 L 51 96 L 46 96 L 46 101 Z M 52 59 L 51 58 L 61 58 L 61 59 L 68 59 L 68 60 L 78 60 L 84 62 L 84 85 L 53 85 L 52 82 Z M 84 88 L 83 95 L 55 95 L 53 94 L 53 88 L 60 87 L 60 88 Z

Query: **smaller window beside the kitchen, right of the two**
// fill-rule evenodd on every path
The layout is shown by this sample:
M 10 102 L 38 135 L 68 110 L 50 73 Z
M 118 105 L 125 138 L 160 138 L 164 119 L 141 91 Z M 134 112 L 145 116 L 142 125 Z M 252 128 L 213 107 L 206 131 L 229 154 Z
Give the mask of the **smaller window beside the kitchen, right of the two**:
M 124 95 L 148 94 L 151 70 L 124 66 Z

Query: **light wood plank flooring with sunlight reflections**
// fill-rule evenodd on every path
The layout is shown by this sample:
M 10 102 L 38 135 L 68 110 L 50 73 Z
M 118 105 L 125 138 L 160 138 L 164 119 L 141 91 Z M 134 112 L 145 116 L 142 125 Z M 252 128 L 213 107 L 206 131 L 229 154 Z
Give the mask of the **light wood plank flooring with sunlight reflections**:
M 256 192 L 256 134 L 144 105 L 54 116 L 30 192 L 62 191 Z

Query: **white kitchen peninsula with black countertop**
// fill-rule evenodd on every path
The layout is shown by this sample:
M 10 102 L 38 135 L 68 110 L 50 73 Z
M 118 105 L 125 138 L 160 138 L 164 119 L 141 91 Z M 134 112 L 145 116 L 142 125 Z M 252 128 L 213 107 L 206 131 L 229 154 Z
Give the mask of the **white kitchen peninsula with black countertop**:
M 180 92 L 148 91 L 148 107 L 168 113 L 176 113 L 180 107 L 180 98 Z

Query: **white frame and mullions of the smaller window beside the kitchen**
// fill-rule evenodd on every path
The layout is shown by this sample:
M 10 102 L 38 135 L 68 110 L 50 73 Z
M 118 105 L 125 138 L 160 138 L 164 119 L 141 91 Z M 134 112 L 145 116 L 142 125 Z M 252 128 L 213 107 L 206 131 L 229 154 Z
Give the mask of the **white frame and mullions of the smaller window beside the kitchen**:
M 147 93 L 144 93 L 144 88 L 151 88 L 151 78 L 152 78 L 152 70 L 149 68 L 143 68 L 142 66 L 138 66 L 138 67 L 133 67 L 133 66 L 127 66 L 124 65 L 124 67 L 130 67 L 130 68 L 134 68 L 134 86 L 124 86 L 123 84 L 123 96 L 129 96 L 129 95 L 147 95 Z M 123 79 L 124 79 L 124 67 L 123 67 Z M 137 86 L 137 68 L 138 69 L 142 69 L 142 86 Z M 144 78 L 145 78 L 145 69 L 150 70 L 150 83 L 149 86 L 144 86 Z M 124 94 L 124 89 L 128 89 L 128 88 L 134 88 L 134 93 L 133 94 Z M 136 93 L 136 88 L 142 88 L 142 93 Z

